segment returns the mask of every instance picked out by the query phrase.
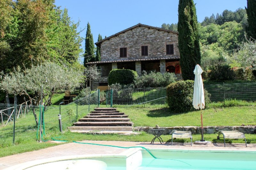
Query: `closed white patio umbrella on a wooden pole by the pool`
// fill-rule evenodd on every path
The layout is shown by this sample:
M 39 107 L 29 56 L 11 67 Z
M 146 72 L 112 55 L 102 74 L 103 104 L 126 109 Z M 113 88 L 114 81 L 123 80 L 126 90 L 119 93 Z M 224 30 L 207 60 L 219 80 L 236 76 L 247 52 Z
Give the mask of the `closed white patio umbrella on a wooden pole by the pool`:
M 195 74 L 195 84 L 194 84 L 194 95 L 193 95 L 193 107 L 195 109 L 201 109 L 201 129 L 202 129 L 202 140 L 204 141 L 204 129 L 203 129 L 203 115 L 202 109 L 204 109 L 204 85 L 201 74 L 203 70 L 196 64 L 194 74 Z

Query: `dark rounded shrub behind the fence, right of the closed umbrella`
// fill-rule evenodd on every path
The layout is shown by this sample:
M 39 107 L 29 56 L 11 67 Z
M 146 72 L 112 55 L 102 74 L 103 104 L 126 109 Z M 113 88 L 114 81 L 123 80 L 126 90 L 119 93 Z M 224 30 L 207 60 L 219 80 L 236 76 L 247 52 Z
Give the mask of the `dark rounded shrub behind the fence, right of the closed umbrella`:
M 209 80 L 211 81 L 226 81 L 234 80 L 234 71 L 230 69 L 229 65 L 213 65 L 210 67 L 210 72 L 208 73 Z

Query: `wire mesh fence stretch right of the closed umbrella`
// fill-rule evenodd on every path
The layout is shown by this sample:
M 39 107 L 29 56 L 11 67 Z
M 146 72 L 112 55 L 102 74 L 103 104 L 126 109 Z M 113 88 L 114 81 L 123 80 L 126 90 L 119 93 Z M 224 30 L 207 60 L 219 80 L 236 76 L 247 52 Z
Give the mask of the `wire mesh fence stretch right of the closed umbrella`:
M 204 85 L 204 88 L 211 94 L 212 102 L 230 99 L 256 101 L 256 83 L 223 83 Z

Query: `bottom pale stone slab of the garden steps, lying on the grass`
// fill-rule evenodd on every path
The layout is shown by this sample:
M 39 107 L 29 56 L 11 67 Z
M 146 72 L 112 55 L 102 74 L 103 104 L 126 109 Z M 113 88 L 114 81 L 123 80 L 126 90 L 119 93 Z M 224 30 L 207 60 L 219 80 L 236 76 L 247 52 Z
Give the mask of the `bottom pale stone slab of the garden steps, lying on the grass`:
M 104 134 L 118 134 L 118 135 L 140 135 L 140 132 L 133 131 L 114 131 L 114 130 L 70 130 L 76 133 L 85 133 L 92 135 L 104 135 Z

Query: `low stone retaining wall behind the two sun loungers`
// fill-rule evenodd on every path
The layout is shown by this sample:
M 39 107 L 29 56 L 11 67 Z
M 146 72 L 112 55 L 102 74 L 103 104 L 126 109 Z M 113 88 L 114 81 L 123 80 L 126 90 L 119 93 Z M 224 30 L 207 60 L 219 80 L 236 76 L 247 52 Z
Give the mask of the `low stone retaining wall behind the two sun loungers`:
M 135 130 L 144 131 L 153 134 L 152 127 L 134 127 Z M 175 127 L 159 127 L 159 129 L 164 129 L 163 135 L 169 135 L 172 130 L 181 131 L 191 131 L 192 134 L 201 134 L 201 127 L 197 126 L 175 126 Z M 242 133 L 256 134 L 256 126 L 207 126 L 204 127 L 205 134 L 215 134 L 219 130 L 238 130 Z

